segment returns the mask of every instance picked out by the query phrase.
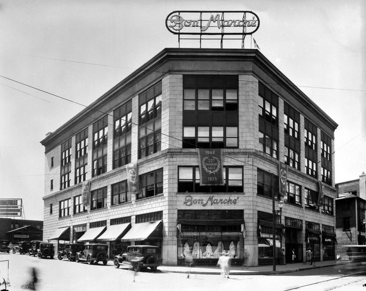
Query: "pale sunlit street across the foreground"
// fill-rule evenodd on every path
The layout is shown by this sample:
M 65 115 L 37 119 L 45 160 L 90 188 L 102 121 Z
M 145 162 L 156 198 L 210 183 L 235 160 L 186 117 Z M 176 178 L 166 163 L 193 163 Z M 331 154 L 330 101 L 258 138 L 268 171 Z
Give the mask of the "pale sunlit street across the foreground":
M 31 278 L 31 268 L 38 271 L 39 283 L 36 290 L 365 290 L 365 268 L 340 266 L 311 269 L 302 272 L 291 272 L 278 275 L 230 275 L 224 279 L 220 275 L 185 273 L 138 272 L 134 280 L 134 272 L 128 269 L 116 269 L 112 261 L 107 266 L 101 263 L 59 261 L 57 259 L 41 259 L 20 254 L 0 254 L 0 272 L 7 277 L 7 260 L 9 260 L 9 291 L 22 290 L 21 286 Z M 1 285 L 1 287 L 3 287 Z M 1 288 L 3 289 L 3 288 Z

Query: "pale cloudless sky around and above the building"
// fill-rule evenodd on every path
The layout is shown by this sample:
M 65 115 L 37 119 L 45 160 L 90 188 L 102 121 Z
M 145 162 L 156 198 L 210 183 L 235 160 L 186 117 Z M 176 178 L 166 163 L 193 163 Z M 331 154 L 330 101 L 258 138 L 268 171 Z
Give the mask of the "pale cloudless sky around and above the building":
M 339 124 L 336 183 L 358 179 L 366 172 L 364 2 L 0 0 L 0 198 L 22 198 L 25 218 L 43 220 L 40 141 L 84 108 L 65 99 L 87 106 L 164 48 L 177 48 L 165 27 L 176 10 L 256 13 L 260 51 Z

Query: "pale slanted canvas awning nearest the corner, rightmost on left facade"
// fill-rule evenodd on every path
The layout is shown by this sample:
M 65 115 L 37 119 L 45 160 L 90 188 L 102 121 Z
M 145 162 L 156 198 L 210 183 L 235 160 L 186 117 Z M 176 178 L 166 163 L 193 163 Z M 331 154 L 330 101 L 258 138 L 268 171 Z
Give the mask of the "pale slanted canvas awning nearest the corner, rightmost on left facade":
M 121 241 L 140 241 L 149 236 L 163 237 L 163 220 L 134 224 Z

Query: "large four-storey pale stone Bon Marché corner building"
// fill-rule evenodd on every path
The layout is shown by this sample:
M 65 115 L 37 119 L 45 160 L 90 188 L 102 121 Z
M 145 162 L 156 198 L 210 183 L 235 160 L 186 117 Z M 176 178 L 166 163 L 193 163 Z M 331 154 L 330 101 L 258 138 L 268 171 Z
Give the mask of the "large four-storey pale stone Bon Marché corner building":
M 271 264 L 273 243 L 334 259 L 337 126 L 258 50 L 164 49 L 41 141 L 43 239 L 153 244 L 165 265 Z

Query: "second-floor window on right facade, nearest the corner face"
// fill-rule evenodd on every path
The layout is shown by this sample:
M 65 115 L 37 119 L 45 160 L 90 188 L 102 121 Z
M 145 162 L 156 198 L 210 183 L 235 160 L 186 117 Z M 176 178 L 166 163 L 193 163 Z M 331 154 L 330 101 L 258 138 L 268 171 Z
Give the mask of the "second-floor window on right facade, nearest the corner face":
M 278 192 L 278 176 L 257 169 L 257 194 L 280 199 Z

